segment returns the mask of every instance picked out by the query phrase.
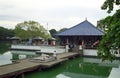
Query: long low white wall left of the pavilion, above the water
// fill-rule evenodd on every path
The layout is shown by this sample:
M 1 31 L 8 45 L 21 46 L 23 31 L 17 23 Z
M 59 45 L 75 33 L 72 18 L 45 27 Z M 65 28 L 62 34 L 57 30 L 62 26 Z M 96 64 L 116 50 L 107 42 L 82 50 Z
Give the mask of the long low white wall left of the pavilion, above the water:
M 56 46 L 32 46 L 32 45 L 11 45 L 11 49 L 21 49 L 21 50 L 38 50 L 37 52 L 42 53 L 64 53 L 65 48 L 60 48 Z

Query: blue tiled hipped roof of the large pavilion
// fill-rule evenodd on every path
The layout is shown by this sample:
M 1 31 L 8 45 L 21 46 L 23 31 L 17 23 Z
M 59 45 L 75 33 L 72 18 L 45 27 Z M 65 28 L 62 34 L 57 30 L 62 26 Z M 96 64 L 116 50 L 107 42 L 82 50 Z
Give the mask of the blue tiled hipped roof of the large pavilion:
M 104 33 L 97 29 L 93 24 L 87 20 L 80 24 L 69 28 L 63 32 L 57 33 L 56 36 L 101 36 Z

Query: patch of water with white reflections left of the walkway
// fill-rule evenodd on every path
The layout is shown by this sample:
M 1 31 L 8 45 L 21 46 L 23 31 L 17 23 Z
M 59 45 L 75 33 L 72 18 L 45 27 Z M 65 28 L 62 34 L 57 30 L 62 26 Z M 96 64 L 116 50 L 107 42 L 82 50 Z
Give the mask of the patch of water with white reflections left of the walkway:
M 11 64 L 15 60 L 26 59 L 37 56 L 35 52 L 28 51 L 7 51 L 0 54 L 0 65 Z

